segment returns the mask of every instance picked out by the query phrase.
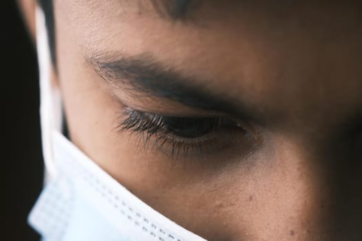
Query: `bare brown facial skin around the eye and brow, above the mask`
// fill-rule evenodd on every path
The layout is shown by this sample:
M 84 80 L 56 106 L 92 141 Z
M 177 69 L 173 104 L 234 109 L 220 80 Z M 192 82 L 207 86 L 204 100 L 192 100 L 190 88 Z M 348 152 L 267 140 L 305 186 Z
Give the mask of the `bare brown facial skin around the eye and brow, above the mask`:
M 362 133 L 347 125 L 362 115 L 361 8 L 205 1 L 192 22 L 181 23 L 136 2 L 54 1 L 54 78 L 72 142 L 154 209 L 208 240 L 360 240 Z M 31 5 L 24 9 L 32 16 Z M 137 135 L 118 134 L 119 112 L 215 113 L 113 90 L 85 59 L 94 50 L 147 52 L 210 79 L 200 84 L 257 109 L 263 124 L 248 123 L 249 138 L 228 133 L 220 141 L 231 142 L 227 148 L 215 143 L 203 157 L 172 162 L 137 145 Z

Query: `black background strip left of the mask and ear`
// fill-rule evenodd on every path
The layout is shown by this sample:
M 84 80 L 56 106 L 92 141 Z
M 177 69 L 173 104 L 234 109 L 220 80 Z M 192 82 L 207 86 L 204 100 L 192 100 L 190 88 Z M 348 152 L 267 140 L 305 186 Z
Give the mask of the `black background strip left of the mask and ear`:
M 27 216 L 41 191 L 37 59 L 16 1 L 1 1 L 0 240 L 39 240 Z

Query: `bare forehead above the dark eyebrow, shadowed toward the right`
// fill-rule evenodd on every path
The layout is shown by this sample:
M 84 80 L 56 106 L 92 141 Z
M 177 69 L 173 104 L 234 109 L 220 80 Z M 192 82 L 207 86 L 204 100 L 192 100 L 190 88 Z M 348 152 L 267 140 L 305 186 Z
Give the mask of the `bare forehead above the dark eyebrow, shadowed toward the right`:
M 269 116 L 361 109 L 361 19 L 352 3 L 202 1 L 178 20 L 154 2 L 56 1 L 59 41 L 71 39 L 79 54 L 150 54 Z

